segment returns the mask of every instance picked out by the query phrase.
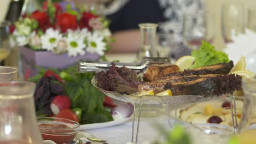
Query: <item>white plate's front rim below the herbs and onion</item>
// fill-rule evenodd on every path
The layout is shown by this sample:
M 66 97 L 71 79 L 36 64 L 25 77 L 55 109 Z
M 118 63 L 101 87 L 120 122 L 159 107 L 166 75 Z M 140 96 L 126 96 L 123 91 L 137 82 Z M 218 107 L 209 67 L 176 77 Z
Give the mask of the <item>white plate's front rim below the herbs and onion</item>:
M 83 124 L 83 125 L 80 125 L 80 130 L 111 127 L 114 125 L 119 125 L 119 124 L 125 123 L 125 122 L 129 121 L 130 118 L 131 117 L 124 118 L 124 119 L 118 119 L 118 120 L 114 120 L 114 121 L 110 121 L 110 122 L 106 122 L 106 123 Z

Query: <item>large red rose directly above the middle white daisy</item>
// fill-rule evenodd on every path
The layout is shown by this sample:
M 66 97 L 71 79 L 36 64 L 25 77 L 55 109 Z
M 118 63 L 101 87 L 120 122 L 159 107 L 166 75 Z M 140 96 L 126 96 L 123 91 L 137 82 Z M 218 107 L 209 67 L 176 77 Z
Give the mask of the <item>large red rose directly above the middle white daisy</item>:
M 65 33 L 67 29 L 75 30 L 78 28 L 77 17 L 72 14 L 62 13 L 56 18 L 56 27 L 60 28 L 62 33 Z

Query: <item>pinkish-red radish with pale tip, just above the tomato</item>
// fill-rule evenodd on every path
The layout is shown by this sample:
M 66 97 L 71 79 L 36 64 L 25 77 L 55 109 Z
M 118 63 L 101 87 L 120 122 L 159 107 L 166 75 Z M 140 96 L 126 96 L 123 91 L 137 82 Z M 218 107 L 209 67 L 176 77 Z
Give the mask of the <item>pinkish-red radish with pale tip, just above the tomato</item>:
M 51 101 L 51 111 L 57 115 L 63 109 L 70 109 L 71 100 L 67 96 L 57 95 Z

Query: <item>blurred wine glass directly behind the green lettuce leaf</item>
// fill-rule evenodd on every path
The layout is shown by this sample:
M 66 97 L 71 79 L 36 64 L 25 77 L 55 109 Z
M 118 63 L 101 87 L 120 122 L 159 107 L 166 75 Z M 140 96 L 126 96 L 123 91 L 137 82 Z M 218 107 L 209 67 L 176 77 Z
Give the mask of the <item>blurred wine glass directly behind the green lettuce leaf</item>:
M 184 44 L 190 49 L 198 49 L 201 41 L 212 42 L 214 38 L 214 17 L 211 13 L 185 14 L 183 20 Z

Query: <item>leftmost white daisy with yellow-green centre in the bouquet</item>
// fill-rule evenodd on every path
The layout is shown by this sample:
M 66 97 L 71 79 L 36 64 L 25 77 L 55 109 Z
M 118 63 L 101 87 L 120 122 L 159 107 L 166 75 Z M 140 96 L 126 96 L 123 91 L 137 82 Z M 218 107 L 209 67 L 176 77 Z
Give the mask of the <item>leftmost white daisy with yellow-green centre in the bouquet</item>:
M 41 36 L 42 49 L 51 51 L 59 44 L 62 35 L 58 30 L 48 28 L 45 34 Z

